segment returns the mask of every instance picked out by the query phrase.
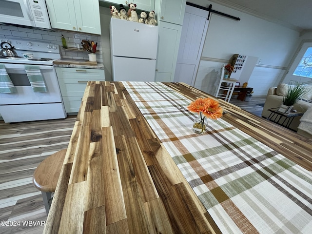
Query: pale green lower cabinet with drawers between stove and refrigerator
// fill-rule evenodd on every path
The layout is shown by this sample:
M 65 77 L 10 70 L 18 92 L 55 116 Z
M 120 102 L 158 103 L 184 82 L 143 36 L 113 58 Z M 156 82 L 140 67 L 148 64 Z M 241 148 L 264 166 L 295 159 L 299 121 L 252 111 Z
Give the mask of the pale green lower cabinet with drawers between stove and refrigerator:
M 79 111 L 88 81 L 105 80 L 103 69 L 56 67 L 55 70 L 67 113 L 77 113 Z

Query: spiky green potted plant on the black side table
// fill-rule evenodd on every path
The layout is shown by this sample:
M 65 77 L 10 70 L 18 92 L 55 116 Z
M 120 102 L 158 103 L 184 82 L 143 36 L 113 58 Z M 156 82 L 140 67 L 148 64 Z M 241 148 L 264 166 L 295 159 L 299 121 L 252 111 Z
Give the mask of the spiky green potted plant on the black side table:
M 296 85 L 289 85 L 287 94 L 283 98 L 283 104 L 278 109 L 279 112 L 288 114 L 293 108 L 299 98 L 302 98 L 306 94 L 306 90 L 303 84 L 297 83 Z

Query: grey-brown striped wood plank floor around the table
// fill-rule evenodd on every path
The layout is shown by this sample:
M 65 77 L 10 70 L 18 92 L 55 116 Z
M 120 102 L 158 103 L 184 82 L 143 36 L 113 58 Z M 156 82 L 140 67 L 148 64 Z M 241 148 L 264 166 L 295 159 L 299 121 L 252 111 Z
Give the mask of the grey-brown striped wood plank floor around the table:
M 265 98 L 253 97 L 246 102 L 234 96 L 230 102 L 261 116 L 262 107 L 257 104 L 264 103 Z M 75 120 L 76 116 L 13 124 L 0 121 L 0 221 L 20 221 L 17 226 L 0 225 L 1 234 L 42 233 L 42 225 L 25 223 L 47 218 L 32 176 L 44 158 L 67 148 Z

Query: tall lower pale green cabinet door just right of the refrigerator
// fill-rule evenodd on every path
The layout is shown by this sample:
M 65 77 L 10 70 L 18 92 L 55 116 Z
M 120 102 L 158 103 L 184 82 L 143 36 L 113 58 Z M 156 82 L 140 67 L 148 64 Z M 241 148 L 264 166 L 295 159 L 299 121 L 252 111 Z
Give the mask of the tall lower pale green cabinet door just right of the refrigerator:
M 181 31 L 181 25 L 159 22 L 156 81 L 174 81 Z

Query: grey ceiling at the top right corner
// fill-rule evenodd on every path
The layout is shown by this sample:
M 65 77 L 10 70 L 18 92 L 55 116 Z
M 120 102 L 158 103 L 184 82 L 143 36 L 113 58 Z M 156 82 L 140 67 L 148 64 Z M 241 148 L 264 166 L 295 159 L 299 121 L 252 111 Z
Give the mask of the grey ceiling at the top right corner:
M 312 0 L 211 1 L 282 24 L 299 32 L 312 31 Z

